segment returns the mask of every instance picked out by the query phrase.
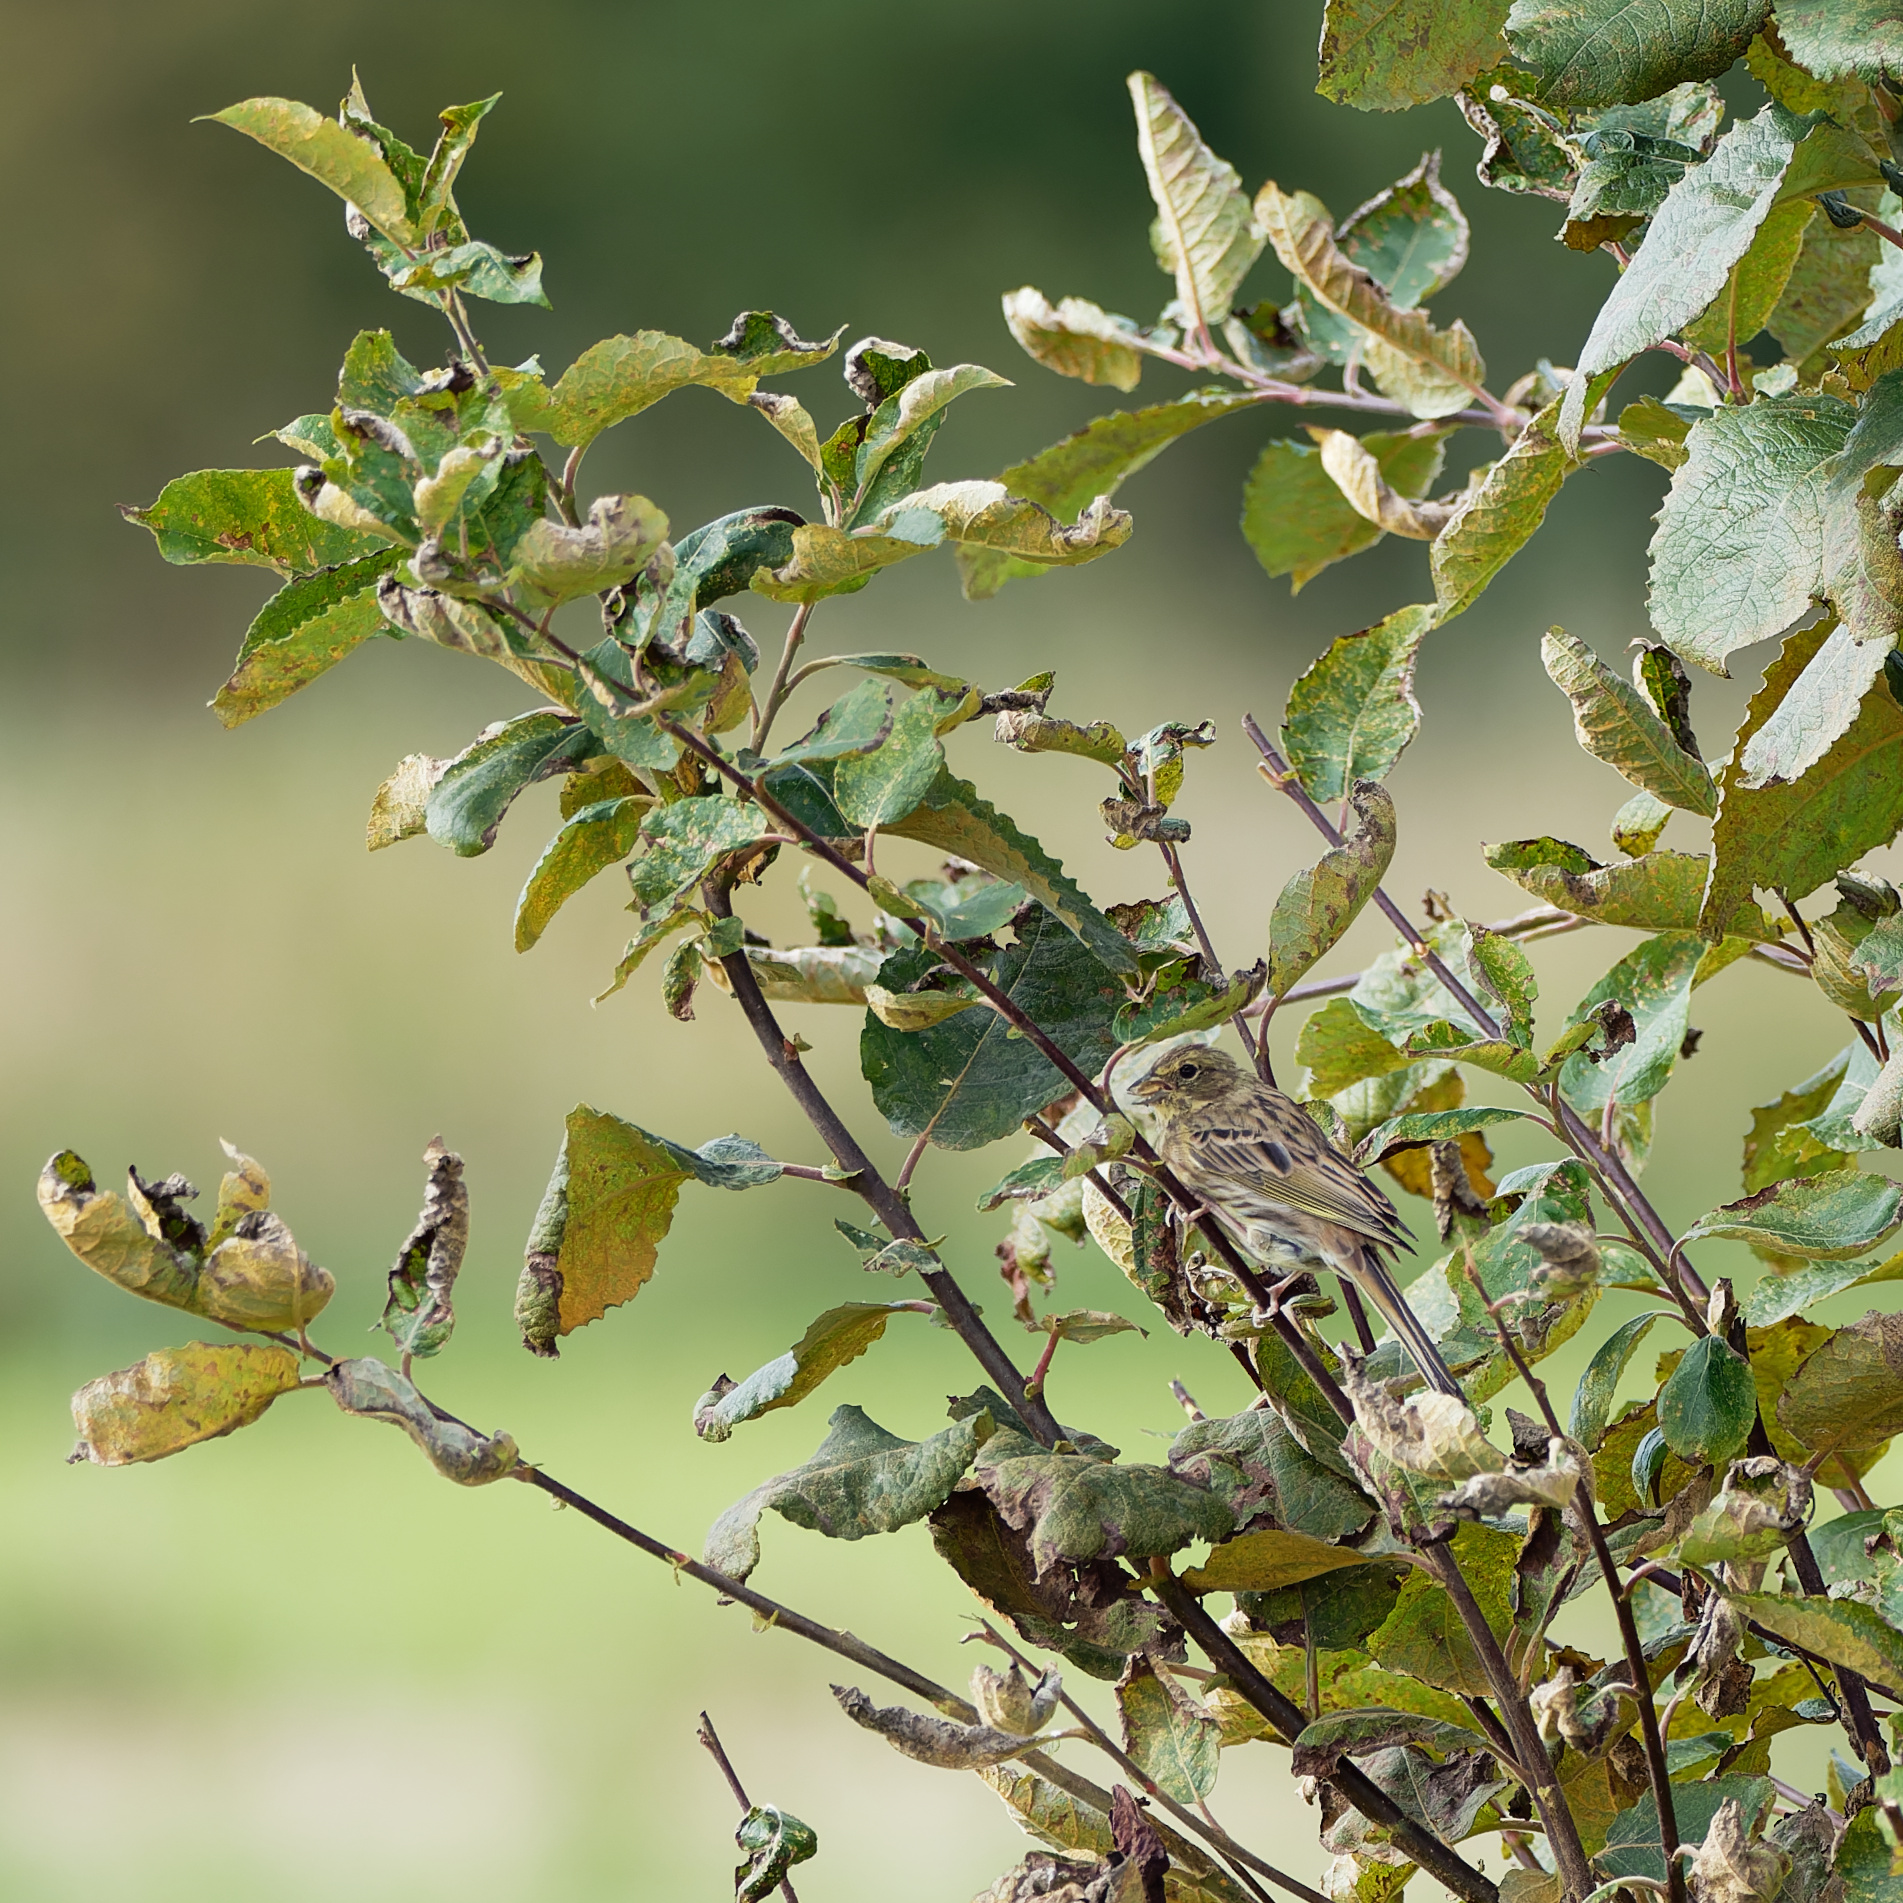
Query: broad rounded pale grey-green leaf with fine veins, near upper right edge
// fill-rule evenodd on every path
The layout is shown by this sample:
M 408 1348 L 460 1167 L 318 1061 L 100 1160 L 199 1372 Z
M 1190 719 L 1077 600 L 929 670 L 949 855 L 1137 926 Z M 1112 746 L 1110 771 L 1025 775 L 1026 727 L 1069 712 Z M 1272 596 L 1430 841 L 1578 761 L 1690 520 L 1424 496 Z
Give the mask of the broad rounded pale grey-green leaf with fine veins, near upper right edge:
M 1726 674 L 1734 649 L 1810 609 L 1831 459 L 1854 419 L 1850 403 L 1793 390 L 1692 426 L 1652 537 L 1652 626 L 1677 655 Z

